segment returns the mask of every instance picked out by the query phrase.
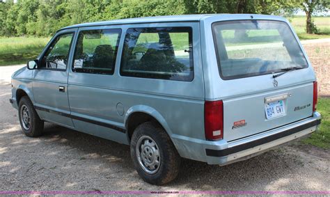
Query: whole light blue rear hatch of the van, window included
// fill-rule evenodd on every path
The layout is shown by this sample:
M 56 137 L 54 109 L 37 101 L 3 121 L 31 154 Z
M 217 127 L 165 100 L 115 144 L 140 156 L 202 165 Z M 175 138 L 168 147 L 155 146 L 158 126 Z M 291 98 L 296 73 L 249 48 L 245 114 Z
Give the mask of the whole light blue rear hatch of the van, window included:
M 313 113 L 313 71 L 286 22 L 212 24 L 223 90 L 223 139 L 266 132 Z

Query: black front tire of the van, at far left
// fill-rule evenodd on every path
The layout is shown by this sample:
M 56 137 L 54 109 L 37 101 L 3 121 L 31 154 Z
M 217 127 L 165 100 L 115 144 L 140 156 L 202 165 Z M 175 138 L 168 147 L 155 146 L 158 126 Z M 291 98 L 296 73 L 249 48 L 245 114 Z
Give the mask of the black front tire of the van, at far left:
M 23 111 L 27 110 L 29 113 L 29 120 L 24 122 L 22 117 L 27 117 Z M 26 112 L 26 111 L 25 111 Z M 42 134 L 42 130 L 44 129 L 44 121 L 40 120 L 36 109 L 34 109 L 33 104 L 29 97 L 24 96 L 19 100 L 18 105 L 18 117 L 19 123 L 21 124 L 22 130 L 26 136 L 36 137 Z

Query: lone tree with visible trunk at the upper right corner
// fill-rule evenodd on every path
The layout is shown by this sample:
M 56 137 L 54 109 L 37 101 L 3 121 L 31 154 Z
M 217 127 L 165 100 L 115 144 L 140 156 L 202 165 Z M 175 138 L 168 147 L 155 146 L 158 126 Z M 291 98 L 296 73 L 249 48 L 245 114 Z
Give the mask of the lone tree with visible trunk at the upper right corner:
M 327 10 L 329 8 L 327 1 L 304 0 L 304 2 L 301 3 L 301 8 L 306 13 L 306 33 L 317 33 L 317 28 L 313 23 L 312 15 Z

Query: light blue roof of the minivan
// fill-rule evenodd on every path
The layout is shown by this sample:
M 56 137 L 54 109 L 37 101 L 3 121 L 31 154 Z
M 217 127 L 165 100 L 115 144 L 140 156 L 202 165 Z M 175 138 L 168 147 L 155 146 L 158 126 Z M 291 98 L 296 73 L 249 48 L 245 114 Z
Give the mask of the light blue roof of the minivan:
M 129 19 L 116 19 L 103 22 L 88 22 L 83 24 L 74 24 L 72 26 L 65 26 L 58 31 L 63 29 L 79 28 L 85 26 L 103 26 L 111 24 L 139 24 L 139 23 L 152 23 L 152 22 L 198 22 L 208 17 L 224 17 L 224 18 L 242 18 L 242 17 L 266 17 L 272 19 L 281 19 L 283 17 L 270 16 L 270 15 L 254 15 L 254 14 L 207 14 L 207 15 L 171 15 L 171 16 L 158 16 L 158 17 L 139 17 L 139 18 L 129 18 Z

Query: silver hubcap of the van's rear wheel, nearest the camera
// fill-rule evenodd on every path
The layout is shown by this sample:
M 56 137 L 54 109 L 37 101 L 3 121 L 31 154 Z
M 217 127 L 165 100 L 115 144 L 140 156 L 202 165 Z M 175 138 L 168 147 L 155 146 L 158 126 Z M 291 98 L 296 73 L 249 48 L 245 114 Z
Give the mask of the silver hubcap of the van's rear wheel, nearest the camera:
M 141 136 L 136 144 L 136 157 L 143 171 L 157 173 L 160 166 L 160 154 L 157 143 L 149 136 Z

